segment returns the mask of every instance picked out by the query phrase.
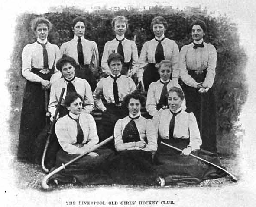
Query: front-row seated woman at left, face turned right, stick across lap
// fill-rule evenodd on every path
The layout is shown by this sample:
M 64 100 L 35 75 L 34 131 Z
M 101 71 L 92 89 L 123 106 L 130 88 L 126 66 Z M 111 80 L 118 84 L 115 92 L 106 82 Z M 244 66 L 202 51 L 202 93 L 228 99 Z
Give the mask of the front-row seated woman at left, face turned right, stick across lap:
M 71 93 L 65 98 L 69 113 L 58 119 L 55 125 L 55 133 L 62 147 L 57 153 L 56 167 L 84 154 L 99 141 L 95 121 L 90 114 L 82 111 L 83 103 L 83 98 L 77 93 Z M 104 181 L 95 176 L 99 175 L 100 169 L 104 168 L 112 155 L 110 149 L 97 149 L 67 166 L 52 179 L 55 179 L 55 183 L 58 180 L 64 183 L 100 184 Z

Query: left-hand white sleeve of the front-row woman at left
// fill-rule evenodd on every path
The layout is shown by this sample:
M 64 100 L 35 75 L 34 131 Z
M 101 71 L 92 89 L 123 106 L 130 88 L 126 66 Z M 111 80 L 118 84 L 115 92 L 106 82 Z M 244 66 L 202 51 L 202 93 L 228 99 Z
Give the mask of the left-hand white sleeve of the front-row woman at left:
M 55 124 L 55 133 L 58 138 L 58 142 L 61 145 L 62 149 L 68 154 L 83 154 L 84 150 L 76 147 L 71 144 L 71 138 L 68 133 L 68 126 L 65 122 L 65 119 L 58 119 Z

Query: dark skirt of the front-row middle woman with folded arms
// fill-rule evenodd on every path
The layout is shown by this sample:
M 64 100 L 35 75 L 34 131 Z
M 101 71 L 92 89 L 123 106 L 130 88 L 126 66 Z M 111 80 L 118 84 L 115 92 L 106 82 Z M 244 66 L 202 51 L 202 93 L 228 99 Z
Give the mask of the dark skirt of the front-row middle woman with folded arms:
M 111 161 L 109 174 L 116 184 L 152 185 L 152 153 L 143 150 L 122 151 Z

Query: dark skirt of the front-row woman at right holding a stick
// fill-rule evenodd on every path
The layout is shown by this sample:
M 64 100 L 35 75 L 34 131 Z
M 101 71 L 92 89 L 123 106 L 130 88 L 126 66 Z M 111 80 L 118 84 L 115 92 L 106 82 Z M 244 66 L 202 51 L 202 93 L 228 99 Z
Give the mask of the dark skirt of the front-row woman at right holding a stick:
M 181 150 L 186 148 L 189 140 L 180 140 L 175 143 L 172 140 L 162 140 Z M 217 155 L 205 150 L 198 150 L 192 154 L 201 157 L 211 163 L 221 166 Z M 163 144 L 159 144 L 156 152 L 155 173 L 165 178 L 166 185 L 190 185 L 198 184 L 206 179 L 220 178 L 226 175 L 220 169 L 204 163 L 191 156 L 181 155 Z

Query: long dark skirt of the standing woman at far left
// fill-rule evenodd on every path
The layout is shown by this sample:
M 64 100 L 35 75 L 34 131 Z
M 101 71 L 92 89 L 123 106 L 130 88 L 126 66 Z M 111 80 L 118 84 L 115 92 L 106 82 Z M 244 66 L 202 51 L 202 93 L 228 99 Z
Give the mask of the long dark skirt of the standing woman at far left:
M 50 80 L 52 73 L 42 74 L 35 72 L 45 80 Z M 47 106 L 49 103 L 49 90 L 47 91 Z M 33 148 L 36 137 L 46 125 L 45 90 L 40 83 L 26 82 L 22 102 L 19 146 L 17 157 L 20 160 L 34 162 Z

